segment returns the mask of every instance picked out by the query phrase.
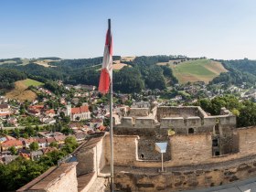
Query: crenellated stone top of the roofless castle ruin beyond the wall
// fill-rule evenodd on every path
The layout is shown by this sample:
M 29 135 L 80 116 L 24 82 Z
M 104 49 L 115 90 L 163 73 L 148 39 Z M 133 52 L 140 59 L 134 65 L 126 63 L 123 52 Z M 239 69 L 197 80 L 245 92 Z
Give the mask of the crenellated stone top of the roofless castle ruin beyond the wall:
M 226 109 L 222 109 L 221 113 L 222 115 L 208 116 L 197 106 L 158 107 L 154 109 L 154 112 L 150 112 L 148 108 L 131 108 L 130 115 L 123 117 L 116 127 L 160 127 L 160 129 L 173 129 L 176 133 L 188 133 L 188 129 L 191 128 L 195 133 L 209 133 L 213 131 L 216 124 L 223 127 L 236 126 L 235 115 Z

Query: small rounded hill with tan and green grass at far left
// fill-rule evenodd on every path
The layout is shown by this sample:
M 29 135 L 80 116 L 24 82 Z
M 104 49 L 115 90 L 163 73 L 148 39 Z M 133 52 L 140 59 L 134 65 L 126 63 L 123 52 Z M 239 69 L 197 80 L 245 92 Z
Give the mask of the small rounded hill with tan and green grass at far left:
M 18 80 L 15 82 L 15 89 L 8 91 L 6 97 L 9 99 L 15 99 L 19 101 L 33 101 L 37 99 L 37 94 L 33 91 L 27 90 L 29 86 L 40 86 L 43 83 L 38 82 L 37 80 Z

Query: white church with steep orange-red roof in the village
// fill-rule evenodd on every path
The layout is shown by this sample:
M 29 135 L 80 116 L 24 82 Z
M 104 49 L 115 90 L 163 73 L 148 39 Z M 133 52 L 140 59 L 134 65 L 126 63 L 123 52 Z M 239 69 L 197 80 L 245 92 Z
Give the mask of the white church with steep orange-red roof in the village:
M 70 103 L 67 105 L 67 115 L 71 121 L 89 120 L 91 119 L 91 112 L 88 105 L 71 108 Z

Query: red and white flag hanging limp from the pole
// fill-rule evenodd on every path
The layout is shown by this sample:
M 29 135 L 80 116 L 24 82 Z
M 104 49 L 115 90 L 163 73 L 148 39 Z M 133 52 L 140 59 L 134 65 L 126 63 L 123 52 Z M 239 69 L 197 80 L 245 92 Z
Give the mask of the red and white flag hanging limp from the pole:
M 109 91 L 111 81 L 112 81 L 112 34 L 110 29 L 108 29 L 105 48 L 104 48 L 104 56 L 102 61 L 101 78 L 99 83 L 99 91 L 102 94 L 106 94 Z

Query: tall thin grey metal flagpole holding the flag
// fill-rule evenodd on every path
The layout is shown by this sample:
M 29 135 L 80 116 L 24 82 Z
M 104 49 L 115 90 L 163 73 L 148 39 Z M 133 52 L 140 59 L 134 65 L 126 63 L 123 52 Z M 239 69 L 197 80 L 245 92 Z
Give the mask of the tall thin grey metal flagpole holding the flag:
M 112 33 L 111 33 L 111 19 L 108 19 L 108 24 L 109 24 L 109 39 L 110 42 L 112 43 Z M 109 45 L 111 47 L 111 44 Z M 112 80 L 110 84 L 110 136 L 111 136 L 111 191 L 114 191 L 114 186 L 113 186 L 113 133 L 112 133 Z

